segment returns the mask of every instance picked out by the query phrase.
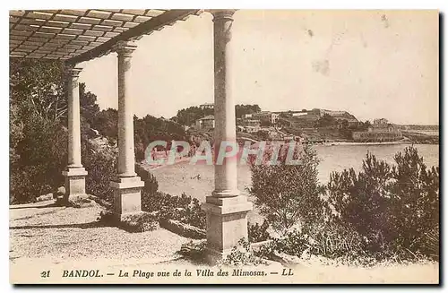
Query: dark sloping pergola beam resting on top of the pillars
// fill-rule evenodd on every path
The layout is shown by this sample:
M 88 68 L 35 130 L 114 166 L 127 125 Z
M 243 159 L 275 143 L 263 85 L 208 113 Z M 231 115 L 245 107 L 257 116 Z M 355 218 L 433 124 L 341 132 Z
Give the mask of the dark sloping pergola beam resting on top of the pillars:
M 126 41 L 134 38 L 138 38 L 142 36 L 143 34 L 147 34 L 148 32 L 151 32 L 152 30 L 158 30 L 163 28 L 168 23 L 176 22 L 179 20 L 185 19 L 188 15 L 195 14 L 199 10 L 169 10 L 166 13 L 162 13 L 159 16 L 151 18 L 151 20 L 147 22 L 142 22 L 139 25 L 135 26 L 134 28 L 131 28 L 129 30 L 125 30 L 121 34 L 117 35 L 116 37 L 109 39 L 107 42 L 99 45 L 98 47 L 94 47 L 90 49 L 89 51 L 82 53 L 79 56 L 74 56 L 70 59 L 68 59 L 66 62 L 67 64 L 78 64 L 83 61 L 88 61 L 90 59 L 103 56 L 107 54 L 114 45 L 118 41 Z

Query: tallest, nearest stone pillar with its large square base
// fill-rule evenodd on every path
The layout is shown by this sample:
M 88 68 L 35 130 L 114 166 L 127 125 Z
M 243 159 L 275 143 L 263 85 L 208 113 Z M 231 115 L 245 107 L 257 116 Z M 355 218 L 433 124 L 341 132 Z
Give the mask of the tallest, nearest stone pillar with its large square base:
M 237 145 L 230 60 L 230 30 L 235 10 L 210 12 L 214 36 L 216 157 L 223 145 Z M 211 263 L 225 257 L 241 238 L 247 239 L 247 212 L 252 210 L 252 203 L 237 190 L 237 156 L 219 163 L 215 163 L 215 190 L 202 203 L 202 210 L 207 212 L 207 254 Z

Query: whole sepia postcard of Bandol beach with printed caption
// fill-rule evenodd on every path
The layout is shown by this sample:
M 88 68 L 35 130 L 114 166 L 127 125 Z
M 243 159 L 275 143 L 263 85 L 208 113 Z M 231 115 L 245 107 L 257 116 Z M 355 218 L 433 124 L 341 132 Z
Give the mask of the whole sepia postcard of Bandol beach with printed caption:
M 439 12 L 9 11 L 13 284 L 438 284 Z

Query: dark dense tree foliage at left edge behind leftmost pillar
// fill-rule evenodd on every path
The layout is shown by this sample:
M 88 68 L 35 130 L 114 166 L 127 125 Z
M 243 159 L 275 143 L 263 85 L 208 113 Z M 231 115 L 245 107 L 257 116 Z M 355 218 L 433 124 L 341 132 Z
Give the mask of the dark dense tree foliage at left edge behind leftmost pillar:
M 30 203 L 64 184 L 67 164 L 65 66 L 58 61 L 10 60 L 10 202 Z M 82 115 L 96 97 L 80 86 Z M 90 177 L 91 179 L 95 179 Z

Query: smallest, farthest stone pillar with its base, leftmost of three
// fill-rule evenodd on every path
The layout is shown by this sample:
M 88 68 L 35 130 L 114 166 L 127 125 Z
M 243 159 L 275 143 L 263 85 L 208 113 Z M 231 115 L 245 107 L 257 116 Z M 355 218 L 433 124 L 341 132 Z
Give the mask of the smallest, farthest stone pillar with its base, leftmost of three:
M 65 203 L 85 198 L 85 177 L 87 171 L 81 162 L 81 117 L 80 117 L 80 89 L 78 77 L 81 68 L 67 66 L 66 90 L 68 108 L 68 164 L 63 171 L 65 176 Z

